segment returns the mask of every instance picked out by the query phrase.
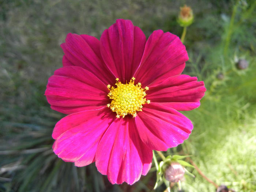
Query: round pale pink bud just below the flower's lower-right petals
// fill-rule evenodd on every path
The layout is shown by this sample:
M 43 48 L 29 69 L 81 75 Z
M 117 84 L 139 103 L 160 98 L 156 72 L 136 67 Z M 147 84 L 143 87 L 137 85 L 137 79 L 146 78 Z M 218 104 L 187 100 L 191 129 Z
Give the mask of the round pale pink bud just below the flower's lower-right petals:
M 172 162 L 169 166 L 166 166 L 164 170 L 166 180 L 170 182 L 178 182 L 183 180 L 185 168 L 178 162 Z

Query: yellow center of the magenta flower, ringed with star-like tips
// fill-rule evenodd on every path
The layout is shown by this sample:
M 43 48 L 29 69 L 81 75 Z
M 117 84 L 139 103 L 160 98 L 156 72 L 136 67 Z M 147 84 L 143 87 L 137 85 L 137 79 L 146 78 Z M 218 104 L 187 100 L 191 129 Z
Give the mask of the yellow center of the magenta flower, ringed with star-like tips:
M 111 103 L 107 106 L 116 112 L 116 117 L 124 116 L 127 114 L 132 114 L 136 117 L 137 111 L 142 111 L 142 105 L 145 103 L 150 103 L 150 100 L 146 101 L 146 90 L 148 87 L 142 89 L 141 83 L 134 85 L 135 78 L 133 77 L 129 83 L 123 84 L 116 79 L 116 88 L 113 86 L 110 89 L 108 85 L 109 94 L 108 97 L 112 99 Z

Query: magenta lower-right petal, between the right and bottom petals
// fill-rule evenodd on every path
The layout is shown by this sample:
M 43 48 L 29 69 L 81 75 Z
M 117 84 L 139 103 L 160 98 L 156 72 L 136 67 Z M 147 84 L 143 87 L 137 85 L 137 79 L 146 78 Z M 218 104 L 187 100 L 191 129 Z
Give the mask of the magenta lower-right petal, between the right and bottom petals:
M 183 143 L 193 129 L 187 117 L 158 103 L 143 105 L 135 122 L 142 141 L 157 151 L 166 151 Z

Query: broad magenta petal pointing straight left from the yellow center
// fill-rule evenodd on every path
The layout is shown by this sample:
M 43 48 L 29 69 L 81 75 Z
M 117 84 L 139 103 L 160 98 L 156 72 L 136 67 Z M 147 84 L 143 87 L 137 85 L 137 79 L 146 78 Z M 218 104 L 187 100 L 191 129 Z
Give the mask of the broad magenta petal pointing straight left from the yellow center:
M 99 109 L 109 103 L 107 86 L 91 72 L 69 66 L 57 69 L 48 80 L 45 95 L 52 109 L 71 114 Z

